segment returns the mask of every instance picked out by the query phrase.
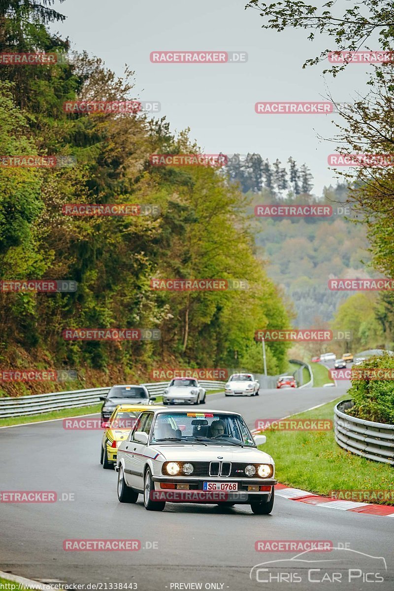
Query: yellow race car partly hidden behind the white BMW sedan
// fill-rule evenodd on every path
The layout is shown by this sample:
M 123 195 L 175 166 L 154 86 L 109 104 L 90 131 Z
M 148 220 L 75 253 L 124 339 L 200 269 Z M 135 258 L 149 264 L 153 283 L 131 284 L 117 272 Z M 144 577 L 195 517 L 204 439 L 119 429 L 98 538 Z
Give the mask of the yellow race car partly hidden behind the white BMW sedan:
M 100 464 L 104 469 L 115 466 L 119 445 L 126 439 L 142 411 L 151 408 L 142 404 L 118 404 L 108 422 L 102 423 L 105 431 L 101 442 Z

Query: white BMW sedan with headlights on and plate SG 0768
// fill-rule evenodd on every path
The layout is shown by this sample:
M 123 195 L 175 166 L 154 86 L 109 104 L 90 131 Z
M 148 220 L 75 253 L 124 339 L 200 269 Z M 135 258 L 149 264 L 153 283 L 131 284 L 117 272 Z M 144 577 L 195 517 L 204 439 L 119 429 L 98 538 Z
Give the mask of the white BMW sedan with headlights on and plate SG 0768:
M 166 501 L 224 506 L 249 504 L 268 515 L 274 501 L 275 463 L 256 446 L 238 413 L 152 407 L 139 415 L 118 447 L 118 499 L 162 511 Z

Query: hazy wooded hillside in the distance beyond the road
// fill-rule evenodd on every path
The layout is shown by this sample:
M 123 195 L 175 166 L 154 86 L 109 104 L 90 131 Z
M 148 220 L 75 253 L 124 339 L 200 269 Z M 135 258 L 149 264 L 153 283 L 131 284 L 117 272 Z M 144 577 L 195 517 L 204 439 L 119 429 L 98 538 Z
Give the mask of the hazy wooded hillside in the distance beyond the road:
M 346 200 L 346 187 L 338 185 L 317 199 L 308 194 L 281 199 L 263 189 L 252 194 L 250 213 L 256 204 L 329 204 L 336 209 Z M 281 285 L 292 301 L 295 326 L 310 327 L 330 322 L 340 303 L 352 292 L 327 288 L 330 277 L 369 277 L 370 260 L 366 229 L 344 216 L 271 218 L 255 217 L 256 246 L 269 259 L 269 277 Z

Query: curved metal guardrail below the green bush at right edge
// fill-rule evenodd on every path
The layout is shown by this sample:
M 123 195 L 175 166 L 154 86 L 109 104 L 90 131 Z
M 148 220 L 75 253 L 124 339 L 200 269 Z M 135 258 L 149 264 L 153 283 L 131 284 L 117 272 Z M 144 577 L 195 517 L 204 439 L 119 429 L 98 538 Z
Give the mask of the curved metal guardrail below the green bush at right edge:
M 357 456 L 394 466 L 394 425 L 364 421 L 343 412 L 353 405 L 353 400 L 343 400 L 334 408 L 337 444 Z

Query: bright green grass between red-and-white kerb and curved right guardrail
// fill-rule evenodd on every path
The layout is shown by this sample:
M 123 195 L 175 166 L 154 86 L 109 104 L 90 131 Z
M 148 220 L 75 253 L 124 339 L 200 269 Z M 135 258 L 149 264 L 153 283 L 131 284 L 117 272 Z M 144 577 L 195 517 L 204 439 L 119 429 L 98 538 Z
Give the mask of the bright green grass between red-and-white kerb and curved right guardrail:
M 337 398 L 314 410 L 294 415 L 297 418 L 329 418 L 334 406 L 346 397 Z M 394 472 L 389 465 L 366 460 L 343 450 L 331 431 L 265 431 L 267 442 L 261 450 L 275 460 L 276 478 L 281 484 L 319 495 L 331 491 L 394 490 Z M 363 499 L 367 502 L 367 499 Z M 372 501 L 394 505 L 392 501 Z

